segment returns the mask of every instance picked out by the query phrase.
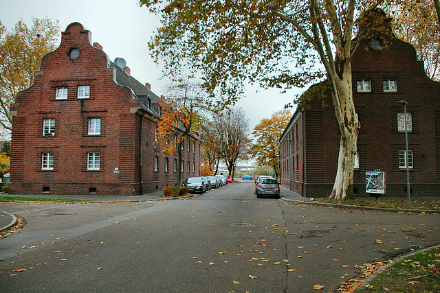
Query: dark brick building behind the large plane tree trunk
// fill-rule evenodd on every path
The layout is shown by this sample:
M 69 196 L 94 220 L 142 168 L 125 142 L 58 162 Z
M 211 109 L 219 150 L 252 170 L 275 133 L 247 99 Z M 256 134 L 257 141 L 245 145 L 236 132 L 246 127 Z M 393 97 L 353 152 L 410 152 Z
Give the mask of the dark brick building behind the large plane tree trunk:
M 380 12 L 383 13 L 383 12 Z M 383 14 L 384 15 L 384 14 Z M 391 32 L 391 20 L 381 28 Z M 408 167 L 412 196 L 440 196 L 440 82 L 430 80 L 414 47 L 387 30 L 362 38 L 351 61 L 353 99 L 361 124 L 354 191 L 365 191 L 366 172 L 386 172 L 386 196 L 406 196 L 404 106 L 407 105 Z M 388 45 L 388 48 L 377 47 Z M 306 93 L 325 85 L 315 84 Z M 281 137 L 281 183 L 307 197 L 325 197 L 338 165 L 340 130 L 325 91 L 298 108 Z

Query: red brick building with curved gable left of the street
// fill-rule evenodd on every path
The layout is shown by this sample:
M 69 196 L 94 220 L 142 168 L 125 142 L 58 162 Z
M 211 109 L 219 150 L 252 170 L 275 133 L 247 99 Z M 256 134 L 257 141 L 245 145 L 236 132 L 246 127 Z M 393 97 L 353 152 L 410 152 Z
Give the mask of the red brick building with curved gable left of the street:
M 177 153 L 154 143 L 161 99 L 115 63 L 80 23 L 63 32 L 11 106 L 11 194 L 135 195 L 177 184 Z M 199 176 L 197 135 L 186 147 L 182 178 Z

